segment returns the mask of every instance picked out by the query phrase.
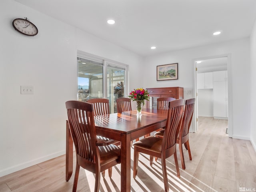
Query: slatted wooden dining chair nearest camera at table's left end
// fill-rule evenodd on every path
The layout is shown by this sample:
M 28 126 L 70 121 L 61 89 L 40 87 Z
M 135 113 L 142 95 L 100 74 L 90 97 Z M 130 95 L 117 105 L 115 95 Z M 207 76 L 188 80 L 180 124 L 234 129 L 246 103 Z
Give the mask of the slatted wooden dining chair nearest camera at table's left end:
M 94 192 L 100 190 L 100 172 L 120 163 L 120 147 L 101 146 L 96 137 L 93 105 L 80 101 L 67 101 L 70 133 L 76 148 L 76 170 L 72 192 L 76 192 L 80 166 L 95 174 Z M 111 175 L 110 175 L 111 177 Z

